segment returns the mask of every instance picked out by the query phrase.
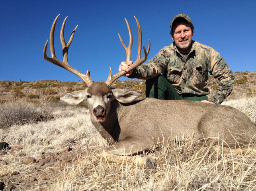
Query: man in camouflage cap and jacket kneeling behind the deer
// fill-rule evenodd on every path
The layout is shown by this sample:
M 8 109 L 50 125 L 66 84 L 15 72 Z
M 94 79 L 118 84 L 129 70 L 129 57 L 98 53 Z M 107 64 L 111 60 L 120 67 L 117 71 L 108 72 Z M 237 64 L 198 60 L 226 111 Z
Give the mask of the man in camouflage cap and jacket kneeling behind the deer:
M 172 44 L 131 71 L 121 62 L 119 71 L 128 72 L 125 76 L 129 78 L 146 79 L 146 97 L 221 104 L 233 88 L 235 76 L 231 69 L 213 48 L 192 40 L 194 27 L 188 15 L 176 15 L 170 27 Z M 219 80 L 210 101 L 206 96 L 210 93 L 208 72 Z

